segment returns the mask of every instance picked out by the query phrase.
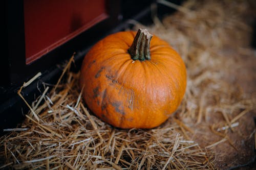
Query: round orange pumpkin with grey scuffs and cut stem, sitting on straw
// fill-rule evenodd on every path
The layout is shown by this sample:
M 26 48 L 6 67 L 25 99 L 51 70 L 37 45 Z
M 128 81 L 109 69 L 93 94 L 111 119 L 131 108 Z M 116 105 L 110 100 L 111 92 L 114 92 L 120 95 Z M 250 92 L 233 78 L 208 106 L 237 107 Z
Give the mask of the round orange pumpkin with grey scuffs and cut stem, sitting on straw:
M 139 29 L 97 42 L 83 59 L 82 96 L 104 122 L 119 128 L 154 128 L 176 111 L 186 68 L 165 41 Z

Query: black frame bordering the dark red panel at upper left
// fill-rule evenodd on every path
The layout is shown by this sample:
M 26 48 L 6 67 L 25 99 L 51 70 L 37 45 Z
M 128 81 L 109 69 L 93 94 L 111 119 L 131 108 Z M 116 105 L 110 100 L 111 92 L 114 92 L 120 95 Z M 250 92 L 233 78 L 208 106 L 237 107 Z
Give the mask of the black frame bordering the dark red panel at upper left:
M 100 30 L 108 30 L 111 26 L 117 25 L 120 13 L 119 6 L 120 1 L 108 0 L 106 7 L 109 14 L 108 18 L 27 65 L 23 1 L 5 0 L 5 42 L 8 42 L 6 48 L 8 60 L 5 58 L 5 61 L 1 62 L 1 67 L 7 68 L 8 71 L 2 72 L 3 75 L 1 76 L 5 77 L 5 81 L 2 81 L 1 85 L 22 85 L 36 72 L 49 69 L 50 66 L 70 57 L 75 51 L 81 50 L 86 45 L 83 44 L 83 39 L 92 40 L 93 36 L 100 36 Z

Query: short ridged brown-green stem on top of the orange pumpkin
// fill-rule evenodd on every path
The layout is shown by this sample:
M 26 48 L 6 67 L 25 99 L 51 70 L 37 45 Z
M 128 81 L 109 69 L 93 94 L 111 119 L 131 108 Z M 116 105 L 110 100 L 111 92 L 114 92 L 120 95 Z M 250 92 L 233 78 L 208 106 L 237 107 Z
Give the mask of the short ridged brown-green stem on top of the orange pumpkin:
M 133 60 L 150 60 L 150 41 L 152 39 L 146 29 L 139 29 L 136 36 L 134 37 L 131 47 L 128 49 L 129 54 Z

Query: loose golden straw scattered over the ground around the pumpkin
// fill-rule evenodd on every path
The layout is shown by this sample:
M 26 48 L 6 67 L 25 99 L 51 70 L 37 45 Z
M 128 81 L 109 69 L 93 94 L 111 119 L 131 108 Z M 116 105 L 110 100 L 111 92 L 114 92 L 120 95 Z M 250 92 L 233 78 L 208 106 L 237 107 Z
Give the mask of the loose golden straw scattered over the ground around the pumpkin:
M 168 41 L 187 66 L 187 90 L 177 112 L 150 130 L 122 130 L 101 122 L 81 98 L 71 58 L 58 83 L 45 83 L 28 104 L 25 122 L 1 137 L 0 168 L 216 169 L 253 158 L 253 4 L 159 3 L 178 10 L 162 22 L 155 17 L 155 25 L 147 27 Z M 236 163 L 230 153 L 236 153 Z

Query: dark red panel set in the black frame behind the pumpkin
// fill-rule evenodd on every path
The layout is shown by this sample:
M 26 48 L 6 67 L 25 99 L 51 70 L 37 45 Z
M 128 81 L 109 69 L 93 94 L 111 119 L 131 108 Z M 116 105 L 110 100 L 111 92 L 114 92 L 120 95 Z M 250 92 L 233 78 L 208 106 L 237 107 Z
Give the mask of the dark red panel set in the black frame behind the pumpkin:
M 26 64 L 107 17 L 105 0 L 24 0 Z

